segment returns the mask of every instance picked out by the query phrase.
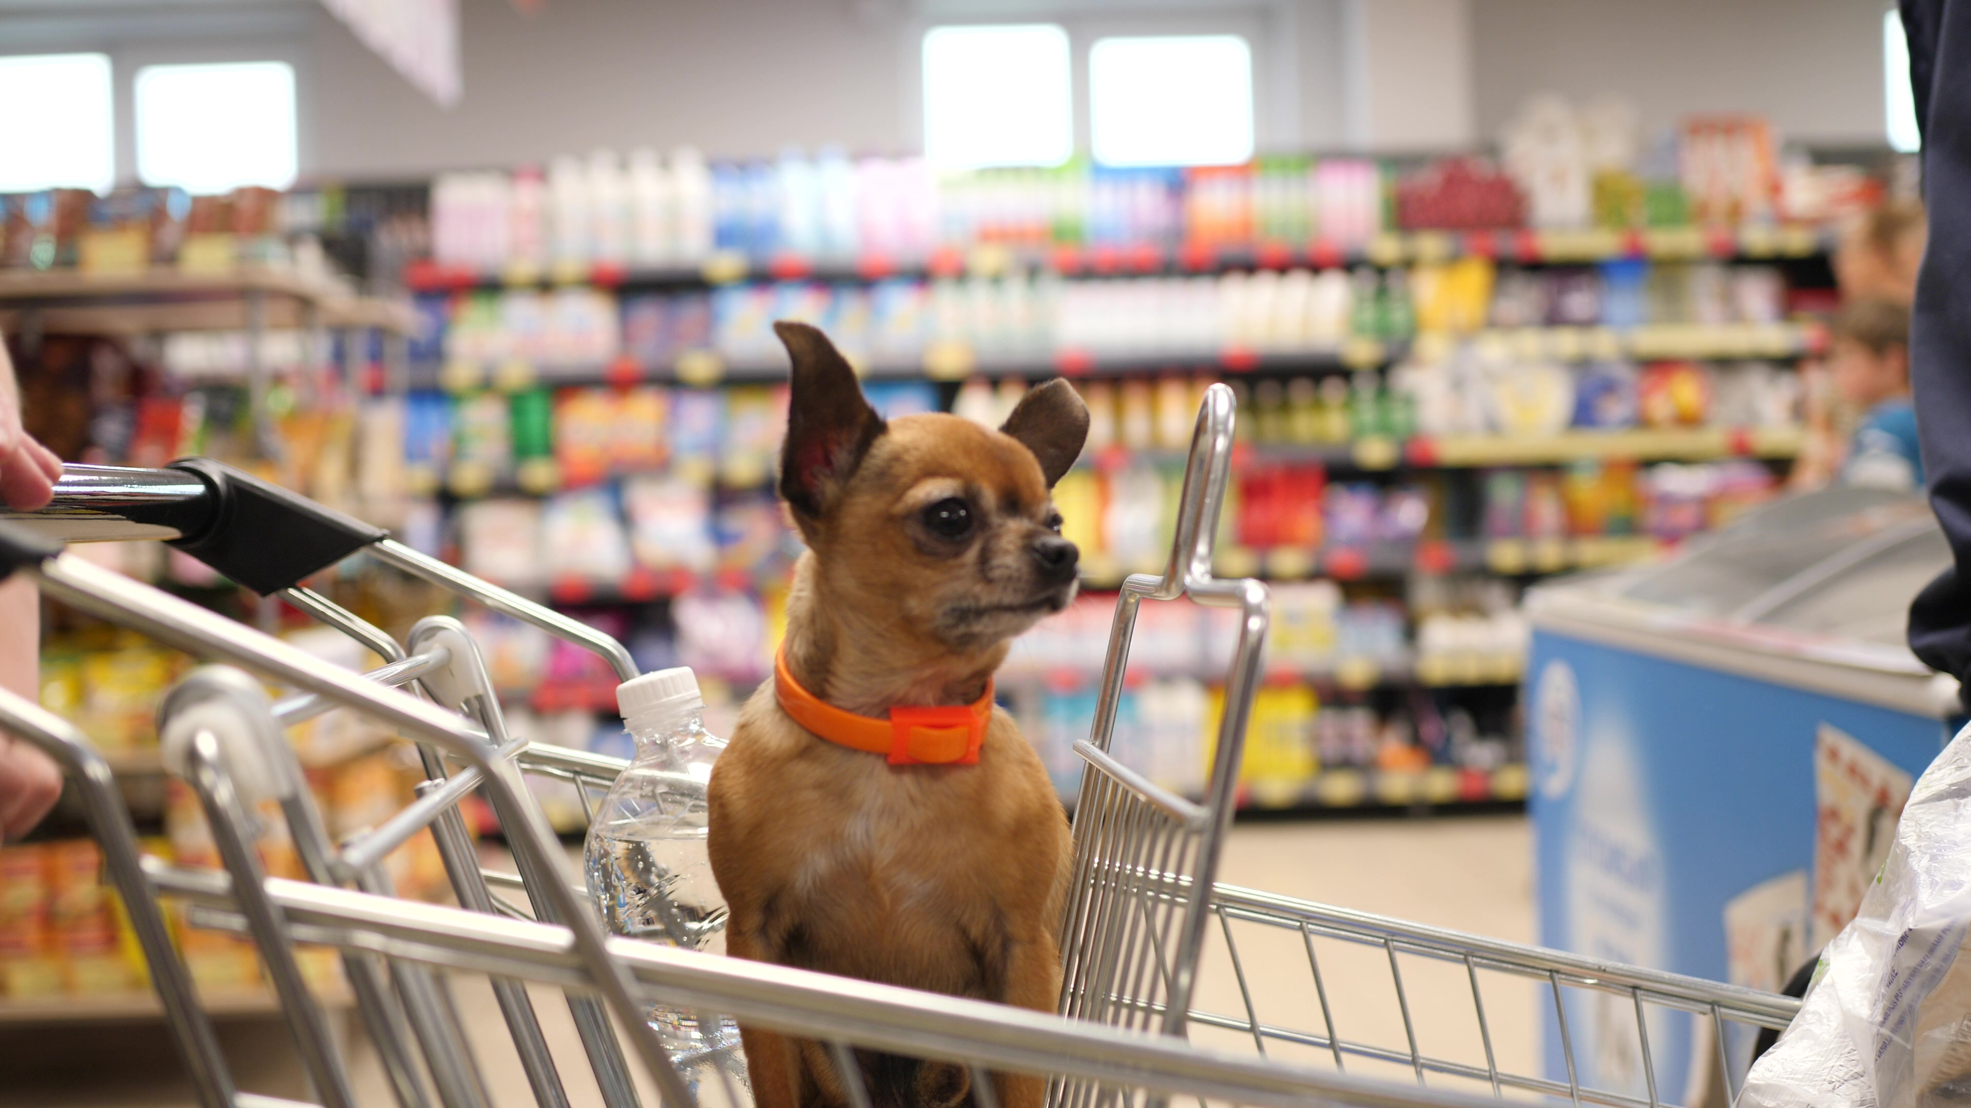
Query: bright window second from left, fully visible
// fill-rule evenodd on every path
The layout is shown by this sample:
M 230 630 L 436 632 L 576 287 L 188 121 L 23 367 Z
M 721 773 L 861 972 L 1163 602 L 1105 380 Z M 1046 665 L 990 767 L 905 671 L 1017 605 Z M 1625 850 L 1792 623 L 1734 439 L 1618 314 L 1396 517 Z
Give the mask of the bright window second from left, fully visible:
M 294 67 L 286 61 L 136 71 L 136 173 L 146 185 L 225 193 L 296 175 Z

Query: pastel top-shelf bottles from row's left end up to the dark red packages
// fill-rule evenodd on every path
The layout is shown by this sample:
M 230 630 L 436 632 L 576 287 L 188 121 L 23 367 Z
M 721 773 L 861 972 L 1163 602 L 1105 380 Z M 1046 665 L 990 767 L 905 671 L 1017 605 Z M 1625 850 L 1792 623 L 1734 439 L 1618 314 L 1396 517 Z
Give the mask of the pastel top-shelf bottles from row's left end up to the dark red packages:
M 714 250 L 924 258 L 972 242 L 1175 242 L 1256 237 L 1360 246 L 1384 229 L 1374 162 L 1261 160 L 1232 170 L 934 173 L 918 158 L 824 148 L 765 162 L 597 150 L 546 172 L 443 173 L 432 256 L 447 266 L 696 264 Z

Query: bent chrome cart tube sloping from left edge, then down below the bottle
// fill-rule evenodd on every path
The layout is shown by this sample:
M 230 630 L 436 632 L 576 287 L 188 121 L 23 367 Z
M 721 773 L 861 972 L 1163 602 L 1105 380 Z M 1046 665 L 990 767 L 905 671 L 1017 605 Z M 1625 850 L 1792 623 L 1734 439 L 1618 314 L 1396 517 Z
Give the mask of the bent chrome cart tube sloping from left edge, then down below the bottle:
M 201 657 L 221 657 L 250 670 L 274 676 L 298 688 L 317 692 L 347 704 L 371 718 L 376 718 L 420 741 L 432 741 L 477 767 L 485 775 L 485 789 L 493 808 L 507 830 L 516 856 L 528 856 L 528 864 L 540 873 L 564 873 L 566 860 L 560 858 L 558 842 L 546 828 L 538 810 L 520 796 L 518 773 L 493 751 L 485 735 L 467 727 L 463 720 L 428 704 L 402 690 L 382 688 L 361 674 L 323 666 L 317 658 L 300 649 L 262 635 L 223 615 L 183 601 L 120 574 L 102 570 L 79 558 L 47 558 L 28 566 L 39 580 L 41 589 L 51 597 L 152 635 Z M 650 1069 L 664 1098 L 674 1106 L 692 1104 L 690 1090 L 664 1053 L 656 1031 L 645 1021 L 633 982 L 621 964 L 611 960 L 601 925 L 576 897 L 564 879 L 542 881 L 542 893 L 552 899 L 558 917 L 570 927 L 576 944 L 587 960 L 593 982 L 601 992 L 625 1031 L 637 1045 L 637 1053 Z

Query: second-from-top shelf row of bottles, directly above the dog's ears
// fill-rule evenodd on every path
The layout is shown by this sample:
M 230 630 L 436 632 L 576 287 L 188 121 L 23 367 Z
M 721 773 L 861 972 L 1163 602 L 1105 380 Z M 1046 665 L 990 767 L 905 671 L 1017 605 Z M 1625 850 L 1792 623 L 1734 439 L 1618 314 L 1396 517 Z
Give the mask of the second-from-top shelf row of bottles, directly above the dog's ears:
M 938 357 L 1047 359 L 1336 353 L 1354 341 L 1409 341 L 1524 327 L 1770 327 L 1788 315 L 1772 266 L 1618 260 L 1500 270 L 1486 258 L 1413 268 L 1259 270 L 1076 280 L 1019 270 L 997 278 L 873 284 L 741 282 L 710 292 L 615 294 L 570 286 L 418 298 L 412 359 L 473 367 L 526 363 L 646 371 L 717 355 L 779 365 L 777 319 L 828 331 L 851 361 L 918 367 Z

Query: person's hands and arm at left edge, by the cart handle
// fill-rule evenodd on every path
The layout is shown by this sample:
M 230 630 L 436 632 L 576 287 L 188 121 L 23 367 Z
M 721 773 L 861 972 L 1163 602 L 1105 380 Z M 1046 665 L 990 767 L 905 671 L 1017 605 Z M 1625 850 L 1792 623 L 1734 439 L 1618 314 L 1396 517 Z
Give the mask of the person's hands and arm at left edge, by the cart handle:
M 61 459 L 20 424 L 20 384 L 0 341 L 0 501 L 32 511 L 49 501 Z M 41 698 L 41 593 L 34 582 L 0 584 L 0 688 Z M 0 731 L 0 842 L 41 822 L 61 796 L 61 771 L 41 751 Z

